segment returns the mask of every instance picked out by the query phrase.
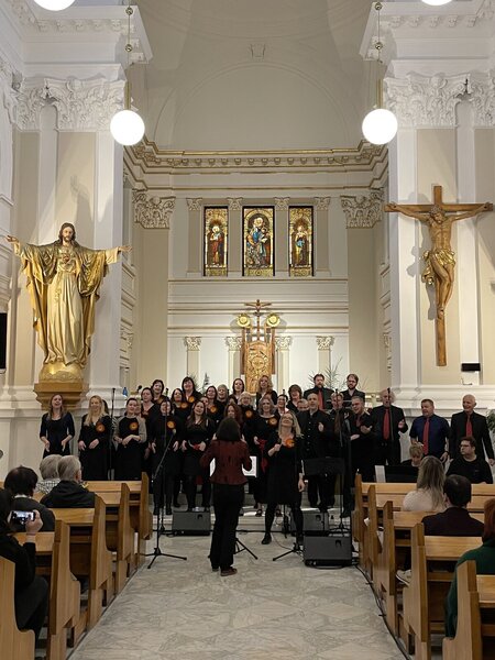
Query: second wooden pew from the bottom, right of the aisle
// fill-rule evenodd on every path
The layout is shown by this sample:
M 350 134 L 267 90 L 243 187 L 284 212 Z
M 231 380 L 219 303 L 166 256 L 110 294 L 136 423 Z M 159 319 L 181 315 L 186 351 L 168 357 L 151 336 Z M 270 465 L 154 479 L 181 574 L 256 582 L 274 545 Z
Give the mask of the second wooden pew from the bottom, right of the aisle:
M 444 629 L 444 600 L 452 581 L 452 564 L 481 546 L 473 537 L 425 537 L 422 525 L 411 536 L 411 580 L 403 590 L 404 630 L 414 638 L 415 660 L 431 659 L 431 632 Z M 446 570 L 440 570 L 443 563 Z M 407 641 L 407 640 L 406 640 Z

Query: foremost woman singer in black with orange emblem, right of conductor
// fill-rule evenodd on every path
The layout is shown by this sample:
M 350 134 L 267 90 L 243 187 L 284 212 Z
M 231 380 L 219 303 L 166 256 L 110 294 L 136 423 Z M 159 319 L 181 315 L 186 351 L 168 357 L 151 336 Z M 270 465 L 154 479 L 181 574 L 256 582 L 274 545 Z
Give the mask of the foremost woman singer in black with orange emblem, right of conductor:
M 302 542 L 301 493 L 305 490 L 300 454 L 300 428 L 294 413 L 280 417 L 278 432 L 266 443 L 270 461 L 265 536 L 262 543 L 272 542 L 272 525 L 277 504 L 288 504 L 296 524 L 297 544 Z

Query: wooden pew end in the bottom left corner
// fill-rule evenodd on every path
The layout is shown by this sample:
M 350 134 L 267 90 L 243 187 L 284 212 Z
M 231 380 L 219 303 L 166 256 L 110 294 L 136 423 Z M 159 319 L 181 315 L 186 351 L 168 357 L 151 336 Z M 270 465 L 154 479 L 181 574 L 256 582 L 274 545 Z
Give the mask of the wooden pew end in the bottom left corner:
M 0 649 L 9 660 L 33 660 L 34 632 L 19 630 L 14 606 L 15 565 L 0 557 Z

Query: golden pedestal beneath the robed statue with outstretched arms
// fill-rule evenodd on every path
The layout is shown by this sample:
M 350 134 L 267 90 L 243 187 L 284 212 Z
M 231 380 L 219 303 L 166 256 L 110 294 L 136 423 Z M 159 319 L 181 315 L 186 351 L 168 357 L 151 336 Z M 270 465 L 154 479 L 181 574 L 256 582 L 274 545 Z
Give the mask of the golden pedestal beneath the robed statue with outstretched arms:
M 40 372 L 40 382 L 34 384 L 36 399 L 47 408 L 52 397 L 61 394 L 64 407 L 74 409 L 86 396 L 89 385 L 82 381 L 82 372 L 76 364 L 44 364 Z

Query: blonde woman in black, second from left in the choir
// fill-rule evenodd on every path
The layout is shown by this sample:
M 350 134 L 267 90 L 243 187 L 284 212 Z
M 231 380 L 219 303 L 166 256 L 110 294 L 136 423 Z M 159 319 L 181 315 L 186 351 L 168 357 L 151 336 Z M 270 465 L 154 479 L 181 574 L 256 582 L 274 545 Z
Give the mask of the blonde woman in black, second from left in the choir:
M 111 419 L 105 414 L 103 402 L 95 395 L 89 399 L 89 410 L 82 417 L 79 433 L 79 461 L 85 481 L 108 480 L 108 451 Z

